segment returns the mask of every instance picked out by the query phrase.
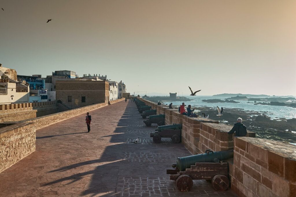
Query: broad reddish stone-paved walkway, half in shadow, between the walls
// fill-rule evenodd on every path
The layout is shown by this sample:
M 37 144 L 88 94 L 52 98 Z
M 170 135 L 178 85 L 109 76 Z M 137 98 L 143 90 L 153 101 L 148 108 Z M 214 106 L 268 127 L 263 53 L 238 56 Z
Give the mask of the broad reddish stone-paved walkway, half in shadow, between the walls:
M 135 103 L 118 102 L 39 129 L 36 151 L 0 173 L 0 196 L 235 196 L 204 180 L 179 192 L 166 169 L 190 153 L 152 142 Z M 141 143 L 131 143 L 140 137 Z

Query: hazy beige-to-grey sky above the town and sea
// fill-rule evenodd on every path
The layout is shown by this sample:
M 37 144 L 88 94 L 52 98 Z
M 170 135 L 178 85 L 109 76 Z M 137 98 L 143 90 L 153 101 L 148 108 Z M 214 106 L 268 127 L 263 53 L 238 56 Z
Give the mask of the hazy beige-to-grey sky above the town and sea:
M 296 1 L 0 0 L 0 63 L 127 91 L 296 95 Z M 47 19 L 52 19 L 46 23 Z

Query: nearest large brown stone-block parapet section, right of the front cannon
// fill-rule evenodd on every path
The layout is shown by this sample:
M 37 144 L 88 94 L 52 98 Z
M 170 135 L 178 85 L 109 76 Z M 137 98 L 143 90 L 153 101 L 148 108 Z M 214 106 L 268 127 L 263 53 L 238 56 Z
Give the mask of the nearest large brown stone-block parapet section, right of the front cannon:
M 296 196 L 296 149 L 292 144 L 235 138 L 234 162 L 229 169 L 231 189 L 239 196 Z

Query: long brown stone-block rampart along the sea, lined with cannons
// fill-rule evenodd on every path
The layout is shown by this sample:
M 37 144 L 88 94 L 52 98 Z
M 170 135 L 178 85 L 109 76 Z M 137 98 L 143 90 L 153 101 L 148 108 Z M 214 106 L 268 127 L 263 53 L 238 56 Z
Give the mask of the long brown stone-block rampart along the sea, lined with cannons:
M 157 114 L 165 114 L 166 125 L 182 124 L 181 140 L 192 154 L 204 153 L 206 149 L 234 149 L 234 158 L 227 162 L 231 188 L 239 196 L 296 196 L 294 145 L 255 138 L 255 133 L 249 131 L 247 137 L 234 138 L 234 134 L 227 133 L 232 126 L 218 124 L 218 121 L 210 119 L 187 117 L 178 113 L 177 109 L 167 109 L 155 106 L 153 102 L 143 101 L 152 108 L 157 108 Z

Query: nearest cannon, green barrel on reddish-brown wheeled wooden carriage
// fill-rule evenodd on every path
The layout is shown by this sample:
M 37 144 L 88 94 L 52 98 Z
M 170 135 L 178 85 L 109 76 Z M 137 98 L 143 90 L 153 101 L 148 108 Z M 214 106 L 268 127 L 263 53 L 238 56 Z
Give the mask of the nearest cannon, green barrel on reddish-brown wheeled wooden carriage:
M 179 191 L 190 191 L 192 180 L 211 180 L 215 190 L 225 191 L 229 187 L 228 164 L 223 160 L 233 158 L 233 150 L 213 152 L 188 157 L 178 157 L 177 163 L 167 169 L 170 180 L 176 181 Z

